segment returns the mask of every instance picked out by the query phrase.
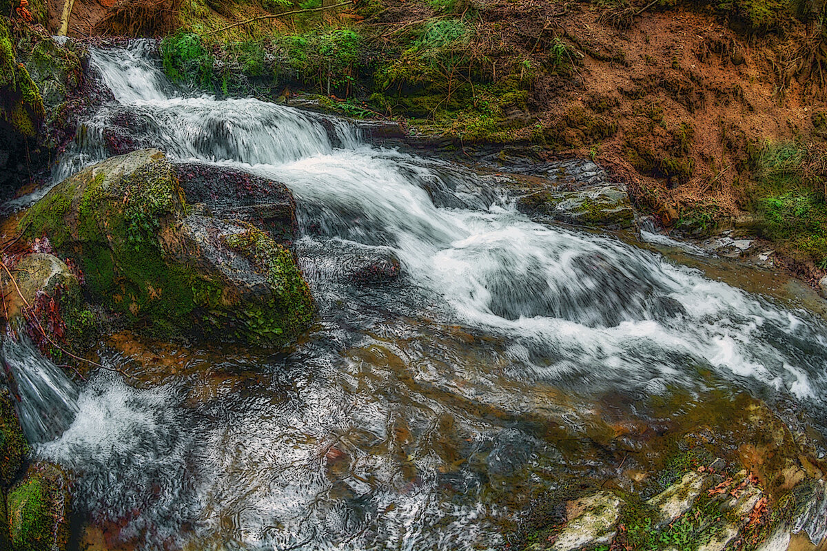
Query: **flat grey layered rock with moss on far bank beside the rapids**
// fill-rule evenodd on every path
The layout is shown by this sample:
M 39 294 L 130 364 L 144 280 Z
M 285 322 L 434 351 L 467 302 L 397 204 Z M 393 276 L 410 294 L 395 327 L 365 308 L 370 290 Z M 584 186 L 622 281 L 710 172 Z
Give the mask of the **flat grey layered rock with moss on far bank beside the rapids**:
M 572 192 L 541 190 L 520 197 L 517 205 L 526 214 L 548 216 L 568 224 L 628 228 L 634 220 L 629 193 L 620 185 Z

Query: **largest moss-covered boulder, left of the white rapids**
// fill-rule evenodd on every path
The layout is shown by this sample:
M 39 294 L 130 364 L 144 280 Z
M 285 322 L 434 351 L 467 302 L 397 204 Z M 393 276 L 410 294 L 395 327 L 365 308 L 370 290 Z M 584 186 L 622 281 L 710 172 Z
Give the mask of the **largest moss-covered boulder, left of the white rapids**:
M 21 221 L 84 272 L 94 302 L 159 338 L 278 346 L 313 316 L 293 255 L 246 221 L 195 212 L 158 150 L 112 157 L 58 184 Z

